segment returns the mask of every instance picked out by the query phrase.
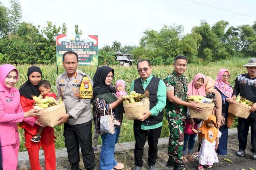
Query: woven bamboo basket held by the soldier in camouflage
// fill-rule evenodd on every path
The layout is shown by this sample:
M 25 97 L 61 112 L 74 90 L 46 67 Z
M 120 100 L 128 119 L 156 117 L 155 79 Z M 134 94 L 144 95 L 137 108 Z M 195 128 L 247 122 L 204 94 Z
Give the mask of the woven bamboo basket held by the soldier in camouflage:
M 191 102 L 192 101 L 188 101 L 188 103 Z M 197 113 L 194 109 L 189 108 L 191 118 L 208 120 L 210 114 L 212 114 L 212 111 L 214 109 L 214 103 L 197 103 L 197 105 L 201 106 L 203 108 L 203 111 L 201 113 Z

